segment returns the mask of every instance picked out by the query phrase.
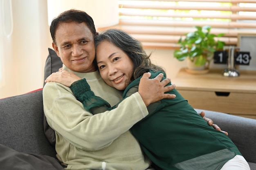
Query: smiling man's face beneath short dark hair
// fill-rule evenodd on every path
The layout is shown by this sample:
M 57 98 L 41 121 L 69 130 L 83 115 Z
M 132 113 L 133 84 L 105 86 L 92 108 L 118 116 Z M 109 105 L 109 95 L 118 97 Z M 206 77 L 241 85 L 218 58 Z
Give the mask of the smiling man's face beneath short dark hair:
M 52 46 L 67 68 L 82 73 L 96 71 L 94 35 L 84 22 L 60 23 L 55 39 Z

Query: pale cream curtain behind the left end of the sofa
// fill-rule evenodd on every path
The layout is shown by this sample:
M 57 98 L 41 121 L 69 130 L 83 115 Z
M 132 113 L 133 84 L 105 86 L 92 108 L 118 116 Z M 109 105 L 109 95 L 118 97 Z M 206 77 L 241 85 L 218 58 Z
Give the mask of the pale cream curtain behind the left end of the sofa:
M 0 0 L 9 1 L 9 0 Z M 50 44 L 46 0 L 12 0 L 13 33 L 3 36 L 0 98 L 43 87 Z

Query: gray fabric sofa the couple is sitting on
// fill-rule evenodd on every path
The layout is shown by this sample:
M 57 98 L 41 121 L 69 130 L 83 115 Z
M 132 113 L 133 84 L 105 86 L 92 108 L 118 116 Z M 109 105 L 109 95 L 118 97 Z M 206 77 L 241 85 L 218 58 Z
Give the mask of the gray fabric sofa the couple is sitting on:
M 249 162 L 251 170 L 256 170 L 256 120 L 205 112 L 222 130 L 229 132 L 229 137 Z M 0 99 L 0 144 L 20 152 L 55 157 L 56 152 L 43 130 L 42 90 Z

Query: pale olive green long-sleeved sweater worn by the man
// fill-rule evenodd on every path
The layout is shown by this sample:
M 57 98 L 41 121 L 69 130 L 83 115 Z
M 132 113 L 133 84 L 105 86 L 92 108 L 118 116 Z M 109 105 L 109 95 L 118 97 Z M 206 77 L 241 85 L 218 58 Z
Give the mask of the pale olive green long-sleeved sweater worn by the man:
M 122 98 L 122 92 L 108 86 L 98 71 L 76 75 L 86 78 L 95 95 L 111 105 Z M 129 131 L 148 115 L 139 93 L 125 99 L 119 109 L 92 115 L 69 87 L 49 82 L 43 88 L 43 104 L 47 122 L 56 132 L 56 156 L 66 170 L 146 170 L 150 166 Z

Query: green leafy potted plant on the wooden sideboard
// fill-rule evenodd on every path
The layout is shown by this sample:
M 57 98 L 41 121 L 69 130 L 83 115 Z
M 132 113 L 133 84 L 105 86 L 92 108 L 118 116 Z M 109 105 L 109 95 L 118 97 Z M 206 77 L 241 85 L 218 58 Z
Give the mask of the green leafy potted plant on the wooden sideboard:
M 177 42 L 180 44 L 180 49 L 174 51 L 174 57 L 180 61 L 188 58 L 189 61 L 193 62 L 193 65 L 198 66 L 198 68 L 194 68 L 195 70 L 208 70 L 214 52 L 222 50 L 225 45 L 225 42 L 215 38 L 222 37 L 224 34 L 214 35 L 210 33 L 211 26 L 208 25 L 195 26 L 195 28 L 196 31 L 187 33 L 184 40 L 181 37 Z

